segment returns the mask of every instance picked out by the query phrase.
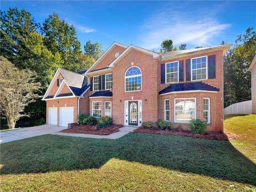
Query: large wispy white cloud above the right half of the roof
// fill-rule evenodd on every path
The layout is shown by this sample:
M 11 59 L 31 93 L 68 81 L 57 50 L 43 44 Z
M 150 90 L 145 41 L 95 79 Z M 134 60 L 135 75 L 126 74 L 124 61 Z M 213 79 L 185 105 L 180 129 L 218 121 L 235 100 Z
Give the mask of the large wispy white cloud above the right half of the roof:
M 167 39 L 171 39 L 177 47 L 183 43 L 195 47 L 211 46 L 216 36 L 230 27 L 230 24 L 220 24 L 214 15 L 213 12 L 198 10 L 187 14 L 184 11 L 160 11 L 142 25 L 140 46 L 149 50 L 158 49 Z

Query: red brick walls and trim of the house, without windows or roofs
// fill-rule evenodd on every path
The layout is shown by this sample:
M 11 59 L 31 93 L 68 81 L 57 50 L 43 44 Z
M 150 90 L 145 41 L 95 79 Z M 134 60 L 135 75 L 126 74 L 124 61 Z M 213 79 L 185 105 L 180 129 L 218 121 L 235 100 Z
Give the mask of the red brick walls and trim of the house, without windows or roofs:
M 181 126 L 184 129 L 188 128 L 188 123 L 175 123 L 175 99 L 180 98 L 195 98 L 196 99 L 196 118 L 203 119 L 203 101 L 204 98 L 210 100 L 210 124 L 207 126 L 207 130 L 223 131 L 223 54 L 226 51 L 226 47 L 217 46 L 217 48 L 205 49 L 202 51 L 195 50 L 189 54 L 178 54 L 175 58 L 161 58 L 156 57 L 155 53 L 150 51 L 144 51 L 141 48 L 112 46 L 108 52 L 104 53 L 104 56 L 100 57 L 98 61 L 85 73 L 88 78 L 88 85 L 91 84 L 90 80 L 94 76 L 101 76 L 112 73 L 112 96 L 97 96 L 92 94 L 95 91 L 90 89 L 85 92 L 84 95 L 74 98 L 61 98 L 53 100 L 46 100 L 47 103 L 47 124 L 48 124 L 48 108 L 52 106 L 73 106 L 74 107 L 74 122 L 77 120 L 77 110 L 79 113 L 85 113 L 86 115 L 92 115 L 92 102 L 101 102 L 101 116 L 105 116 L 105 101 L 111 101 L 111 113 L 112 119 L 115 124 L 127 123 L 127 118 L 132 117 L 132 111 L 126 109 L 126 105 L 132 102 L 138 102 L 138 124 L 144 121 L 150 121 L 155 123 L 158 120 L 164 120 L 164 100 L 169 100 L 169 121 L 174 127 Z M 116 58 L 116 52 L 121 55 Z M 200 56 L 212 56 L 215 55 L 215 71 L 216 78 L 199 80 L 199 81 L 186 81 L 186 60 L 190 58 L 196 58 Z M 173 61 L 183 61 L 184 68 L 184 81 L 177 83 L 161 83 L 161 64 Z M 112 65 L 110 65 L 112 63 Z M 114 63 L 114 64 L 113 64 Z M 130 67 L 138 67 L 141 72 L 141 90 L 125 91 L 125 74 Z M 58 75 L 58 78 L 60 78 Z M 105 81 L 102 81 L 104 83 Z M 184 82 L 202 82 L 213 86 L 218 91 L 183 91 L 183 92 L 168 92 L 167 94 L 159 94 L 161 90 L 170 86 L 171 84 L 179 84 Z M 57 83 L 54 82 L 48 95 L 55 94 L 57 90 Z M 101 86 L 102 90 L 104 86 Z M 99 91 L 102 91 L 101 89 Z M 105 89 L 104 89 L 105 90 Z M 106 90 L 105 90 L 106 91 Z M 61 93 L 68 93 L 68 87 L 64 86 Z M 79 102 L 78 102 L 79 100 Z M 59 101 L 57 103 L 57 101 Z M 79 106 L 78 106 L 79 103 Z M 132 104 L 131 104 L 132 106 Z M 134 107 L 134 106 L 132 106 Z M 129 107 L 129 109 L 131 109 Z M 128 112 L 127 112 L 128 111 Z M 129 117 L 127 117 L 129 116 Z

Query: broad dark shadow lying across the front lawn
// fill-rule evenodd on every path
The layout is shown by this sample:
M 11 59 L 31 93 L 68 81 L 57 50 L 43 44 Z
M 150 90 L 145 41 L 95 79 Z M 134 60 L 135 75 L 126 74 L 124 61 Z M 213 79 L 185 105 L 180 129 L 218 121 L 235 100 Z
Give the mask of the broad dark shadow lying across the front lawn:
M 256 165 L 230 142 L 157 134 L 118 140 L 44 135 L 1 144 L 1 174 L 100 168 L 111 158 L 256 186 Z

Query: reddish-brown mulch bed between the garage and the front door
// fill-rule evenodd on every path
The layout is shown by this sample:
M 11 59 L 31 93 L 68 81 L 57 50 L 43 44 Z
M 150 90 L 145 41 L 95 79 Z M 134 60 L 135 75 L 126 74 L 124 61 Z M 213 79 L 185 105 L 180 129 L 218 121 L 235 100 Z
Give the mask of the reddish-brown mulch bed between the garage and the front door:
M 106 128 L 98 128 L 90 125 L 76 125 L 69 129 L 61 130 L 62 133 L 83 133 L 83 134 L 95 134 L 95 135 L 110 135 L 119 131 L 119 128 L 123 125 L 112 124 Z

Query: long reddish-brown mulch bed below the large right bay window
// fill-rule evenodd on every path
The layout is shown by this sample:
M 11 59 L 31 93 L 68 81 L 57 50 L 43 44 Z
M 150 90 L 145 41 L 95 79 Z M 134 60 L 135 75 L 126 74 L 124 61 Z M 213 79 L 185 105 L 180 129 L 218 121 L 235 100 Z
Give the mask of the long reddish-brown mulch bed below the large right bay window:
M 176 136 L 186 136 L 192 138 L 200 138 L 206 140 L 232 140 L 239 138 L 239 135 L 233 133 L 220 133 L 220 132 L 204 132 L 201 134 L 196 134 L 190 130 L 184 130 L 182 128 L 173 128 L 172 130 L 160 130 L 157 127 L 152 127 L 145 129 L 142 127 L 137 128 L 133 131 L 134 133 L 153 133 L 153 134 L 166 134 L 166 135 L 176 135 Z

